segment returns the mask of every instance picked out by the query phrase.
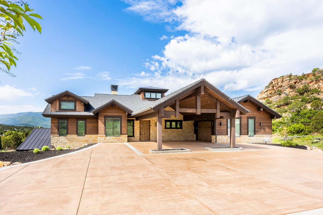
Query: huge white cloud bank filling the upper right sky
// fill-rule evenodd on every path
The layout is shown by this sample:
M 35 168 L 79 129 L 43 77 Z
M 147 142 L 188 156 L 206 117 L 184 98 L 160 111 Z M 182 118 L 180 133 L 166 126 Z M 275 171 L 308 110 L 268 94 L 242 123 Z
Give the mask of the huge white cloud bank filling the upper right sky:
M 227 92 L 255 91 L 274 77 L 323 67 L 323 2 L 319 0 L 126 3 L 129 11 L 146 20 L 188 33 L 171 38 L 161 55 L 146 61 L 144 66 L 154 76 L 120 79 L 125 86 L 155 83 L 175 90 L 205 78 Z

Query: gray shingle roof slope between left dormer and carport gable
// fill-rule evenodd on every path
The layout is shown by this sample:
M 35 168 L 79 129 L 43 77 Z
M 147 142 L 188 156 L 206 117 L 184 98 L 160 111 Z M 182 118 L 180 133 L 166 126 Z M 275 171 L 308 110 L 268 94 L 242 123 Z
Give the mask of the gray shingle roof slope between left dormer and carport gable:
M 47 104 L 43 114 L 45 115 L 75 115 L 75 116 L 94 116 L 92 110 L 99 108 L 111 100 L 115 100 L 125 107 L 136 111 L 152 101 L 141 100 L 140 95 L 113 95 L 113 94 L 94 94 L 94 97 L 81 96 L 82 98 L 89 101 L 84 109 L 84 112 L 75 111 L 51 111 L 50 104 Z

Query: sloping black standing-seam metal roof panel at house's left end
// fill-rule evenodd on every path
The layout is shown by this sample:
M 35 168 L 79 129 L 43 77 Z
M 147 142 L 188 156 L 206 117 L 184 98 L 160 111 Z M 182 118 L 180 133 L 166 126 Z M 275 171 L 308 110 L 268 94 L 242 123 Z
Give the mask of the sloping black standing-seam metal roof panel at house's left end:
M 50 128 L 34 128 L 16 150 L 28 151 L 35 148 L 41 149 L 43 146 L 50 147 Z

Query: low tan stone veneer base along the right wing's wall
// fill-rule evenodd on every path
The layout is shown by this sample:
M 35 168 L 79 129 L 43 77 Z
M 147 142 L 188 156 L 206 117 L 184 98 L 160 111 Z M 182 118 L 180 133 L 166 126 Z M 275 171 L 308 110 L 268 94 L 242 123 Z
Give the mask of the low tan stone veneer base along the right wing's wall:
M 212 136 L 212 142 L 215 143 L 215 136 Z M 216 138 L 217 143 L 230 144 L 230 137 L 227 135 L 218 135 Z M 235 138 L 236 143 L 273 143 L 272 135 L 255 135 L 249 137 L 248 135 L 241 135 Z

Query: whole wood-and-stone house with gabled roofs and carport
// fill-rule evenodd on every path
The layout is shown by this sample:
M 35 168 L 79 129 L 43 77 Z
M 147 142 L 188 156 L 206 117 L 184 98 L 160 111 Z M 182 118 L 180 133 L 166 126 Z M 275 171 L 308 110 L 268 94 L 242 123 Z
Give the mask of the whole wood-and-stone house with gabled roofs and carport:
M 272 142 L 272 119 L 281 115 L 250 95 L 230 98 L 205 79 L 165 96 L 168 89 L 140 87 L 132 95 L 78 96 L 68 90 L 45 99 L 51 144 L 71 146 L 163 140 L 230 144 Z

